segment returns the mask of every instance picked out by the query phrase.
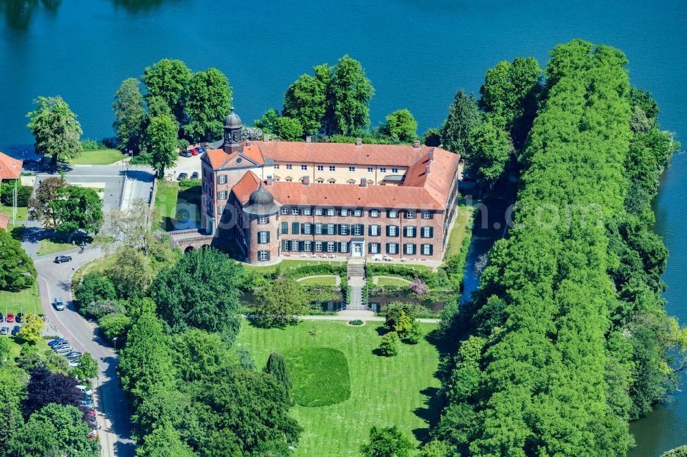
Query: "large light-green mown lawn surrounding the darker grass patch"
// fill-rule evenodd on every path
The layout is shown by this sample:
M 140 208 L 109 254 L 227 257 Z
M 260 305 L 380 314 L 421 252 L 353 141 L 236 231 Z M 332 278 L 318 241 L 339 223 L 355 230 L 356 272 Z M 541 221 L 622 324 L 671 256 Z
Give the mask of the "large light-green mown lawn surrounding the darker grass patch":
M 427 439 L 427 418 L 436 420 L 438 406 L 429 406 L 429 395 L 438 390 L 440 383 L 433 376 L 438 366 L 438 351 L 423 340 L 416 345 L 403 344 L 396 357 L 385 358 L 373 352 L 379 347 L 377 328 L 381 323 L 367 323 L 362 327 L 350 327 L 343 321 L 304 320 L 285 329 L 259 329 L 244 322 L 237 347 L 249 349 L 264 366 L 271 351 L 286 356 L 291 367 L 294 386 L 312 385 L 313 398 L 317 392 L 332 396 L 341 388 L 339 379 L 320 377 L 318 373 L 326 364 L 305 371 L 302 365 L 313 355 L 312 349 L 337 349 L 348 360 L 350 374 L 350 398 L 330 406 L 306 407 L 296 404 L 291 414 L 304 428 L 296 456 L 359 456 L 359 448 L 368 440 L 372 425 L 387 427 L 398 425 L 403 433 L 418 445 L 417 437 Z M 425 333 L 436 325 L 422 324 Z M 319 356 L 322 356 L 320 354 Z M 335 355 L 328 355 L 334 358 Z M 328 362 L 341 373 L 340 362 Z M 341 368 L 341 369 L 339 369 Z M 322 383 L 326 383 L 322 386 Z M 296 393 L 300 402 L 305 392 Z M 345 397 L 345 395 L 341 395 Z

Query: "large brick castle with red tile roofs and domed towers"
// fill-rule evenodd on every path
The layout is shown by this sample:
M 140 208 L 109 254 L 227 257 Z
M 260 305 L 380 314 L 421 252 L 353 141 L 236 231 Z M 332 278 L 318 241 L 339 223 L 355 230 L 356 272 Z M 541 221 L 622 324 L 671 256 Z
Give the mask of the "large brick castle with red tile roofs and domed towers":
M 440 261 L 458 199 L 460 156 L 413 145 L 242 138 L 225 119 L 203 154 L 202 229 L 248 263 L 337 255 Z

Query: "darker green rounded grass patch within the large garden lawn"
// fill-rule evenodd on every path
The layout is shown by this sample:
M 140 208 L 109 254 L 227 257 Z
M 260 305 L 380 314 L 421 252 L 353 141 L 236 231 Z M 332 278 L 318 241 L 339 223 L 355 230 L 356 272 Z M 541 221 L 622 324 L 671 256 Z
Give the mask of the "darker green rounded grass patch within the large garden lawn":
M 327 406 L 350 397 L 348 360 L 328 347 L 301 348 L 284 353 L 291 375 L 291 395 L 301 406 Z

